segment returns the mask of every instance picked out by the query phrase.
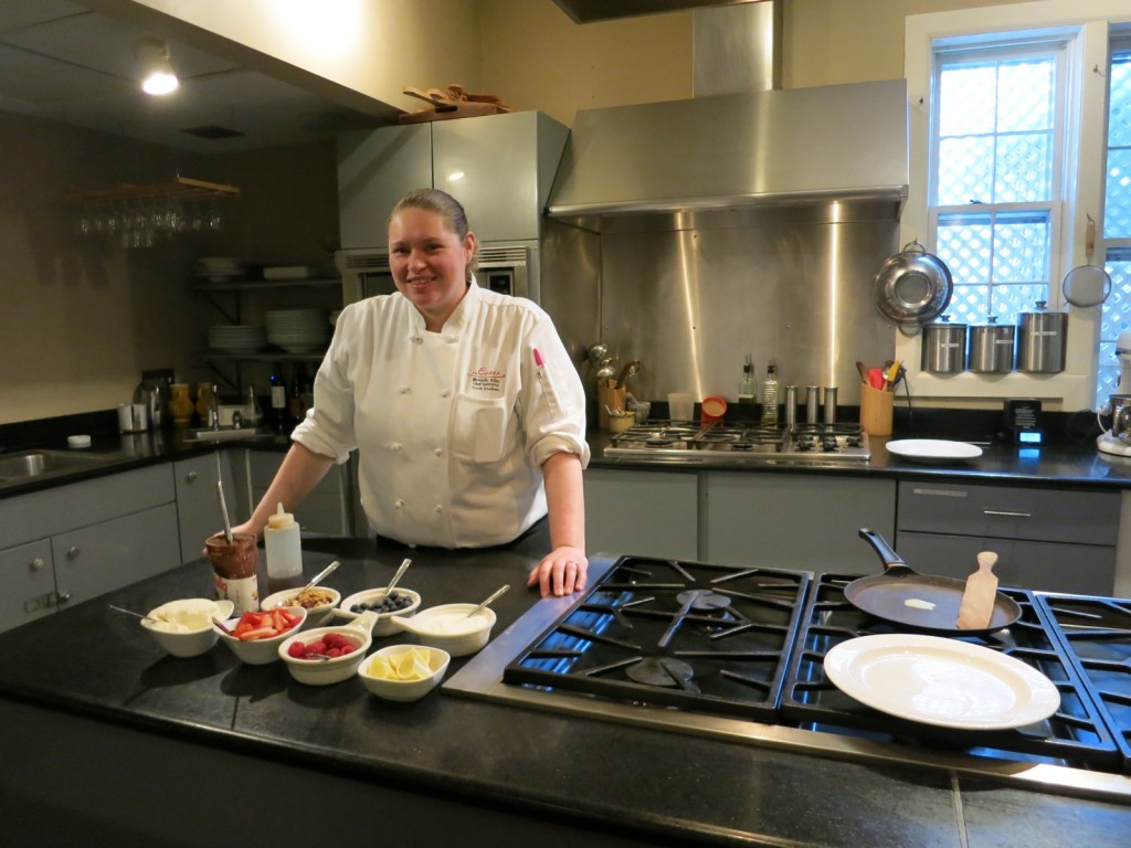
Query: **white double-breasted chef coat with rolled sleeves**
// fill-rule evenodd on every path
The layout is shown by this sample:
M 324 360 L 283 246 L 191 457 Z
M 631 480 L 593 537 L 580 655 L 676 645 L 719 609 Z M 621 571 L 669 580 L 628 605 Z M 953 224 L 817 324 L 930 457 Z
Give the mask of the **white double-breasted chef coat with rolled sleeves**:
M 542 464 L 588 465 L 585 390 L 550 317 L 474 280 L 440 332 L 399 292 L 346 306 L 293 439 L 359 445 L 372 530 L 411 545 L 511 542 L 546 514 Z

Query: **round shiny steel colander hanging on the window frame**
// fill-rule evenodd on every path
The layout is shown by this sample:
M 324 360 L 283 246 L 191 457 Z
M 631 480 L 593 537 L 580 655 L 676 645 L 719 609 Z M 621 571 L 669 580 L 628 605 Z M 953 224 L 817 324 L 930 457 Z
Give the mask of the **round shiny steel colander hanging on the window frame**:
M 912 335 L 947 309 L 955 291 L 946 262 L 927 253 L 918 240 L 888 259 L 877 272 L 874 284 L 881 314 Z

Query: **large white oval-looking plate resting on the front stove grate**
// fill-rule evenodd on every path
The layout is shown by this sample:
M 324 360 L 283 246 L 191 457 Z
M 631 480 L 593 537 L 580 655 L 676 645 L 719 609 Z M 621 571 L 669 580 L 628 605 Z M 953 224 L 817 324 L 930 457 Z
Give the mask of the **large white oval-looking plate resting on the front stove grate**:
M 1060 707 L 1060 691 L 1031 666 L 942 637 L 882 633 L 849 639 L 824 656 L 824 673 L 861 703 L 936 727 L 1026 727 Z

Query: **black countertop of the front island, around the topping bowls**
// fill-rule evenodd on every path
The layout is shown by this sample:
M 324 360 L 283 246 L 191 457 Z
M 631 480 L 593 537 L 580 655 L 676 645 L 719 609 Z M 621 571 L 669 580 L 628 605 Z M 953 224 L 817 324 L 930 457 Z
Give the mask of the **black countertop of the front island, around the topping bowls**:
M 494 604 L 502 632 L 533 604 L 554 603 L 521 588 L 544 545 L 538 535 L 478 552 L 307 539 L 304 564 L 313 574 L 340 559 L 330 582 L 348 594 L 386 585 L 409 555 L 403 585 L 426 605 L 481 599 L 509 582 L 515 589 Z M 1131 832 L 1131 807 L 992 779 L 527 710 L 442 689 L 391 703 L 355 678 L 309 687 L 282 664 L 243 666 L 222 644 L 174 659 L 107 606 L 145 611 L 209 587 L 210 569 L 198 561 L 0 634 L 0 699 L 535 816 L 546 828 L 588 832 L 594 843 L 1039 848 L 1067 838 L 1121 845 Z M 454 660 L 449 675 L 460 665 Z M 172 814 L 178 799 L 162 804 Z M 359 815 L 375 820 L 379 812 Z

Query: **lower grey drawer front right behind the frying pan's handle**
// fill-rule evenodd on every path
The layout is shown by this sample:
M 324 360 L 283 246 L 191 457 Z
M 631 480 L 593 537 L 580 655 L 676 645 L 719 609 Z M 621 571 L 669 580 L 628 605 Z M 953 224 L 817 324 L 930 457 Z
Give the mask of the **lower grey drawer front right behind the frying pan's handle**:
M 965 580 L 977 570 L 978 552 L 993 551 L 998 554 L 993 571 L 1001 586 L 1105 596 L 1115 587 L 1115 548 L 1105 545 L 900 530 L 896 550 L 922 574 Z

